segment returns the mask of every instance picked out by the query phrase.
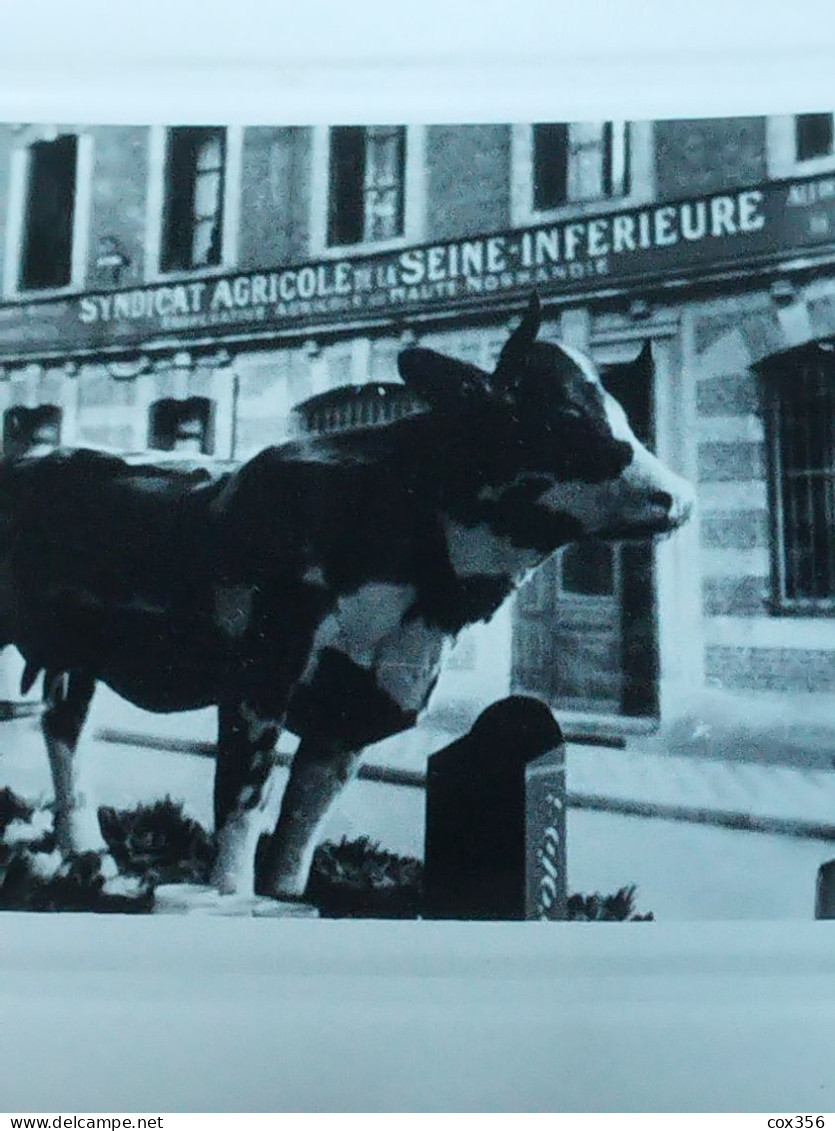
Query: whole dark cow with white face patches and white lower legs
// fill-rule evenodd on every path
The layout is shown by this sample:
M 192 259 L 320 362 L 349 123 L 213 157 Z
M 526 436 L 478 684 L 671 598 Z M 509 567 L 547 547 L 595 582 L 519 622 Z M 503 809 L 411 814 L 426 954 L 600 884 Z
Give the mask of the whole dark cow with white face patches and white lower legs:
M 102 681 L 150 711 L 217 707 L 212 884 L 303 900 L 364 748 L 415 725 L 464 628 L 568 543 L 687 520 L 691 487 L 540 322 L 534 295 L 492 374 L 404 349 L 424 411 L 218 473 L 83 449 L 0 468 L 0 644 L 27 688 L 43 674 L 64 858 L 115 875 L 78 761 Z M 256 854 L 282 728 L 299 746 Z

